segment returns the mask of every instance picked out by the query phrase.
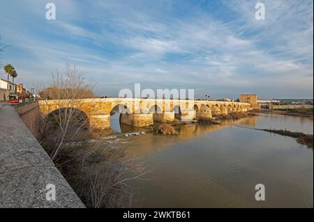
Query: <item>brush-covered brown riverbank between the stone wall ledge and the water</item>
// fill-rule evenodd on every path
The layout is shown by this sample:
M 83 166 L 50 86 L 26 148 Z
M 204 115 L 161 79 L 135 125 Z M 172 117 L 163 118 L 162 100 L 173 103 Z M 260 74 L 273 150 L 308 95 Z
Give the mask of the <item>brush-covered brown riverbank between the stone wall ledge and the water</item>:
M 70 187 L 88 208 L 133 207 L 133 188 L 127 182 L 140 180 L 145 168 L 130 168 L 125 157 L 128 136 L 64 143 L 54 161 Z

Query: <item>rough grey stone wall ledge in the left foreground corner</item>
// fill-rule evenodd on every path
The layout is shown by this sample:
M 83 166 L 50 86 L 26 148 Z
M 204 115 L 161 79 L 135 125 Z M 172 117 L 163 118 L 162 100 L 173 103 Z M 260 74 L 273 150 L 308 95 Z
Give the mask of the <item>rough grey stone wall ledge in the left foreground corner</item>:
M 0 104 L 0 207 L 84 207 L 10 104 Z

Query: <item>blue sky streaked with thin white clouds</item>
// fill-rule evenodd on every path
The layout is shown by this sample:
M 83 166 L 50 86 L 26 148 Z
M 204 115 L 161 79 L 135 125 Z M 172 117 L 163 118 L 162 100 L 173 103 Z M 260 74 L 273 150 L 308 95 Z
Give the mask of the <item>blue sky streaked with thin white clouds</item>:
M 47 20 L 46 3 L 56 6 Z M 25 86 L 76 65 L 98 95 L 194 89 L 195 97 L 313 98 L 313 0 L 0 1 L 0 35 Z M 6 79 L 1 68 L 0 78 Z

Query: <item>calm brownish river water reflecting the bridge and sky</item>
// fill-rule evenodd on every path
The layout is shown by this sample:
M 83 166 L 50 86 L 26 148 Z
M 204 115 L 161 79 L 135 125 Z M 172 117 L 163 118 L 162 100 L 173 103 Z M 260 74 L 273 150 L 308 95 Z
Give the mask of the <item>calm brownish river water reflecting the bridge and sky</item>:
M 132 131 L 119 121 L 112 127 Z M 130 184 L 134 207 L 313 207 L 313 149 L 250 128 L 313 134 L 313 119 L 260 114 L 184 126 L 178 136 L 124 138 L 124 158 L 136 158 L 131 168 L 149 171 Z M 266 200 L 255 200 L 256 184 L 264 184 Z

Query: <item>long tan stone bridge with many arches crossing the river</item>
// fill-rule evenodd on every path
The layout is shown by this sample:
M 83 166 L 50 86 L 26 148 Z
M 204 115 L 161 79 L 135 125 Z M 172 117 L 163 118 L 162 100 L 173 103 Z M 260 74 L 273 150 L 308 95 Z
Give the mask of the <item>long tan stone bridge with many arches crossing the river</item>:
M 142 98 L 96 98 L 81 100 L 40 100 L 40 113 L 46 116 L 58 109 L 73 108 L 89 118 L 90 129 L 110 127 L 110 116 L 121 113 L 120 121 L 135 127 L 156 122 L 209 119 L 220 114 L 246 112 L 251 104 L 208 100 L 166 100 Z

